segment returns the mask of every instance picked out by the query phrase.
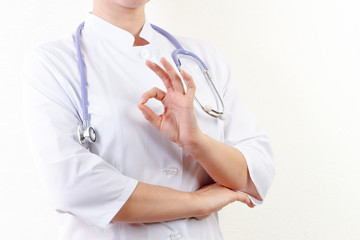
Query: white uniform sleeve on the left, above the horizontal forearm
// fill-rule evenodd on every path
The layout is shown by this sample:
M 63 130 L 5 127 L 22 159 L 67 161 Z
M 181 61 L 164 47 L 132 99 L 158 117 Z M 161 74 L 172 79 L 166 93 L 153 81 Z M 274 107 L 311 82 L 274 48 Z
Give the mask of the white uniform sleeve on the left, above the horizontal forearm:
M 103 231 L 138 181 L 78 142 L 81 120 L 54 69 L 40 47 L 23 66 L 23 113 L 30 148 L 53 208 Z

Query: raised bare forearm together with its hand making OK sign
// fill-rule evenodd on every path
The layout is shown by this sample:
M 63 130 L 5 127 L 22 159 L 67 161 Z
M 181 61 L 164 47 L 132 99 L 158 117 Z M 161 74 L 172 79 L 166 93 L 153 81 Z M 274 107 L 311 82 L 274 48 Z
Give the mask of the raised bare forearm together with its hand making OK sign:
M 192 77 L 181 71 L 187 86 L 185 91 L 181 78 L 165 58 L 161 59 L 165 70 L 151 61 L 146 64 L 163 80 L 167 91 L 153 88 L 143 94 L 138 107 L 144 117 L 196 159 L 216 182 L 260 199 L 242 153 L 201 133 L 194 111 L 196 86 Z M 163 114 L 157 115 L 145 105 L 151 98 L 161 101 Z

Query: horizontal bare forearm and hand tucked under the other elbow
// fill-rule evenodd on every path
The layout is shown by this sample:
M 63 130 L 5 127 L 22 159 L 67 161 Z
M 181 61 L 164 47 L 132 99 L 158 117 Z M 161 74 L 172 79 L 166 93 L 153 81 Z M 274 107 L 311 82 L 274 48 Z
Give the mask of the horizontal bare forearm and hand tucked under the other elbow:
M 153 223 L 181 218 L 201 220 L 235 201 L 254 207 L 246 194 L 220 184 L 211 184 L 189 193 L 139 183 L 112 222 Z

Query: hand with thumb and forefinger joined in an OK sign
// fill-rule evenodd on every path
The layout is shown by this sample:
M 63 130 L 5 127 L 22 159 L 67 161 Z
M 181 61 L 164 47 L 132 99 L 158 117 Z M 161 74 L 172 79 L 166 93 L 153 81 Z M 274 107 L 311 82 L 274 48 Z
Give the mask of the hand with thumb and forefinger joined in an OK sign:
M 149 60 L 146 61 L 146 65 L 161 78 L 166 92 L 156 87 L 152 88 L 142 95 L 138 108 L 164 136 L 184 148 L 195 143 L 201 135 L 194 112 L 196 86 L 192 77 L 182 70 L 181 76 L 187 86 L 185 91 L 181 77 L 171 64 L 164 57 L 160 62 L 164 69 Z M 145 105 L 150 98 L 155 98 L 164 105 L 161 115 L 157 115 Z

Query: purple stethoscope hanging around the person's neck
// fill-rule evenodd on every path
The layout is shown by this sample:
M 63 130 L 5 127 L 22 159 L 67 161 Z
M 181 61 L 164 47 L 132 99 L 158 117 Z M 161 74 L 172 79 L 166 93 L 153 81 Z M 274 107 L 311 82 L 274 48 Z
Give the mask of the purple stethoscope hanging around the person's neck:
M 81 47 L 80 47 L 80 34 L 84 28 L 84 24 L 85 24 L 85 22 L 81 23 L 78 26 L 78 28 L 76 30 L 76 35 L 75 35 L 76 54 L 77 54 L 77 58 L 78 58 L 78 66 L 79 66 L 80 77 L 81 77 L 81 105 L 82 105 L 82 109 L 83 109 L 82 123 L 78 126 L 78 138 L 79 138 L 79 142 L 81 144 L 96 141 L 96 132 L 95 132 L 94 128 L 91 127 L 90 121 L 89 121 L 88 106 L 87 106 L 87 94 L 86 94 L 86 77 L 85 77 L 85 71 L 84 71 L 85 64 L 82 59 Z M 186 51 L 181 46 L 181 44 L 174 38 L 174 36 L 172 36 L 170 33 L 166 32 L 165 30 L 163 30 L 153 24 L 151 24 L 151 27 L 154 30 L 156 30 L 157 32 L 159 32 L 160 34 L 162 34 L 163 36 L 165 36 L 176 48 L 172 52 L 172 59 L 174 60 L 174 63 L 179 71 L 181 71 L 181 62 L 180 62 L 179 55 L 190 57 L 192 60 L 195 60 L 195 62 L 200 66 L 200 68 L 205 76 L 205 79 L 207 79 L 211 83 L 211 86 L 215 90 L 217 98 L 219 98 L 219 100 L 220 100 L 222 110 L 221 111 L 215 110 L 210 105 L 202 105 L 196 97 L 195 97 L 195 101 L 201 107 L 201 109 L 204 110 L 204 112 L 206 112 L 208 115 L 210 115 L 214 118 L 225 120 L 224 102 L 223 102 L 218 90 L 216 89 L 213 80 L 211 79 L 211 77 L 209 75 L 208 68 L 206 67 L 205 63 L 194 53 Z

